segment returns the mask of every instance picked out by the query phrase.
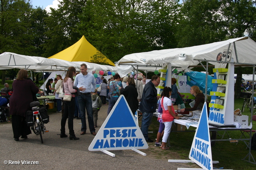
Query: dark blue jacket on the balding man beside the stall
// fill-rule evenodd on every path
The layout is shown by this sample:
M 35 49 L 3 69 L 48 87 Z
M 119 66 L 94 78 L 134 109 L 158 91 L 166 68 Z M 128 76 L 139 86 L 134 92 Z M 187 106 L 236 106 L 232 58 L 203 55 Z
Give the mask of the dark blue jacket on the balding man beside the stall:
M 150 81 L 145 85 L 143 89 L 142 98 L 140 102 L 140 111 L 148 113 L 156 112 L 156 96 L 156 88 L 154 84 Z

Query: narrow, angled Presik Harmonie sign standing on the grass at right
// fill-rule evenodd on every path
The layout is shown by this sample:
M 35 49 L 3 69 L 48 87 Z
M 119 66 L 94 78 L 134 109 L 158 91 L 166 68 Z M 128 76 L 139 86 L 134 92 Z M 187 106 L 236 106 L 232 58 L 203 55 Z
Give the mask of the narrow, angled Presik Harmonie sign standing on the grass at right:
M 212 149 L 206 102 L 202 109 L 196 134 L 190 149 L 189 158 L 204 169 L 212 170 Z

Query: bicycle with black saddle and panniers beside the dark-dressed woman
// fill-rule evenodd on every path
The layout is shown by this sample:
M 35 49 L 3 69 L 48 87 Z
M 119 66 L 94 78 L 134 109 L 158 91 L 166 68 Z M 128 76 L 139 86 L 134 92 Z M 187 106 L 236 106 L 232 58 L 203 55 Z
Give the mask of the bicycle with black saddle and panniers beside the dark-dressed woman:
M 33 126 L 31 126 L 31 130 L 33 130 L 33 132 L 36 135 L 40 135 L 41 143 L 44 143 L 42 133 L 44 134 L 44 132 L 48 132 L 48 131 L 46 131 L 46 127 L 44 126 L 43 119 L 39 113 L 39 110 L 38 110 L 39 105 L 40 105 L 40 102 L 30 103 L 30 107 L 32 107 L 32 112 L 33 112 Z

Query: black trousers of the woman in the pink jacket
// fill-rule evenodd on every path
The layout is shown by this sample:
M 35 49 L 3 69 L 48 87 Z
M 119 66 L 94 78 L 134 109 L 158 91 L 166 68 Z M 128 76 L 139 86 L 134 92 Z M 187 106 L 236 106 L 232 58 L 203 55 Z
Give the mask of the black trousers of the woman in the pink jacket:
M 68 119 L 69 134 L 74 135 L 73 119 L 74 119 L 74 109 L 75 109 L 75 98 L 72 97 L 70 102 L 63 101 L 63 105 L 64 105 L 64 113 L 61 119 L 60 132 L 65 133 L 66 120 Z

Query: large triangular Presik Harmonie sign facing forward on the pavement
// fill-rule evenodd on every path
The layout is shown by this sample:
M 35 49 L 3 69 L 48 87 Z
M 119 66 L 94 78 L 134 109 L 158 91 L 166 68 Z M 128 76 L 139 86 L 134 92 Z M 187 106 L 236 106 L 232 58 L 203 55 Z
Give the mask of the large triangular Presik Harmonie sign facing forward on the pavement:
M 121 95 L 88 150 L 147 149 L 148 144 L 134 115 Z

